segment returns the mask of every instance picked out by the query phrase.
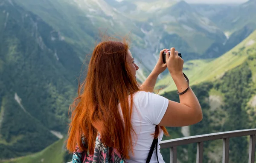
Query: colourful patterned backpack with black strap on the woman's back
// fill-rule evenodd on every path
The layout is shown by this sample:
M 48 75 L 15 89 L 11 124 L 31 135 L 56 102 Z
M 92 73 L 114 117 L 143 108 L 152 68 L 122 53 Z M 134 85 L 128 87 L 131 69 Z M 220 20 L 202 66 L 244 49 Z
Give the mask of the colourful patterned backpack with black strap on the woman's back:
M 82 143 L 84 144 L 83 138 Z M 157 154 L 157 143 L 158 139 L 154 139 L 151 145 L 150 152 L 146 163 L 149 163 L 151 156 L 156 149 Z M 158 162 L 158 156 L 157 156 Z M 76 151 L 73 153 L 72 163 L 127 163 L 125 158 L 120 155 L 120 153 L 112 147 L 108 147 L 105 143 L 101 142 L 101 135 L 98 133 L 96 138 L 94 153 L 93 155 L 89 154 L 89 151 L 81 151 L 79 147 L 76 146 Z M 159 163 L 159 162 L 158 162 Z

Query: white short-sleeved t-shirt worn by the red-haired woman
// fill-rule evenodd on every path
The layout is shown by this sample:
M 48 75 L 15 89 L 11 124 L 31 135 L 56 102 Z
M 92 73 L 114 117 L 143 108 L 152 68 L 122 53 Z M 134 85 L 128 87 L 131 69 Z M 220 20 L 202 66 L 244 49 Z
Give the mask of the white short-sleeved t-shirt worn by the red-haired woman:
M 130 153 L 128 163 L 145 163 L 154 139 L 156 124 L 159 124 L 168 107 L 169 100 L 154 93 L 139 91 L 134 94 L 131 123 L 137 134 L 133 138 L 134 155 Z M 164 163 L 160 154 L 160 141 L 163 138 L 163 131 L 160 129 L 158 137 L 158 160 Z M 136 142 L 137 141 L 137 142 Z M 150 163 L 157 163 L 156 151 L 154 149 Z

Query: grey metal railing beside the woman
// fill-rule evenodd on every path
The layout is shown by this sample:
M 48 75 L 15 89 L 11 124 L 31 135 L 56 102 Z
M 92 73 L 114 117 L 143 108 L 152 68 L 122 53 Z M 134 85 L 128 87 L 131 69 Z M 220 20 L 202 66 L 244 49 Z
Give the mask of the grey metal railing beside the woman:
M 161 141 L 160 146 L 163 148 L 171 148 L 170 150 L 170 163 L 177 163 L 177 146 L 197 143 L 196 163 L 203 163 L 203 143 L 205 141 L 213 141 L 223 139 L 223 155 L 222 163 L 228 163 L 229 160 L 229 138 L 250 136 L 249 145 L 249 161 L 248 163 L 254 163 L 255 161 L 255 135 L 256 129 L 242 129 L 227 132 L 216 132 L 205 135 L 189 136 L 184 138 L 171 139 L 167 141 Z M 68 162 L 72 163 L 72 162 Z

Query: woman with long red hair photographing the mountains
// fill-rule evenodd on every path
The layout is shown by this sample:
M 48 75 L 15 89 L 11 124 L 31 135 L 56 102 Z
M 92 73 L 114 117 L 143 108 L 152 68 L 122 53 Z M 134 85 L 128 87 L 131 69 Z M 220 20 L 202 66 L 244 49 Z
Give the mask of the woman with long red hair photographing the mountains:
M 128 163 L 145 163 L 154 138 L 158 148 L 165 126 L 188 126 L 202 120 L 201 106 L 183 76 L 183 59 L 175 48 L 162 53 L 145 82 L 139 86 L 136 71 L 139 67 L 129 51 L 128 43 L 105 41 L 99 43 L 92 53 L 86 80 L 79 87 L 74 101 L 67 140 L 70 152 L 79 149 L 93 154 L 97 133 L 102 142 L 115 148 Z M 179 95 L 180 103 L 168 100 L 153 92 L 157 76 L 168 68 Z M 160 127 L 159 127 L 160 126 Z M 81 142 L 84 138 L 84 145 Z M 164 163 L 157 150 L 159 163 Z M 151 157 L 157 163 L 157 156 Z

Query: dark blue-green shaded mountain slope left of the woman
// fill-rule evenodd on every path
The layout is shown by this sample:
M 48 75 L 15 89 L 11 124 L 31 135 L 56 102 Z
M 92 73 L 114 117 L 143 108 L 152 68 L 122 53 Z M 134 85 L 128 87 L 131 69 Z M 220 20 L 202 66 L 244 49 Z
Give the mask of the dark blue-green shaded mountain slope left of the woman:
M 1 1 L 0 159 L 41 151 L 66 133 L 81 65 L 40 17 Z

